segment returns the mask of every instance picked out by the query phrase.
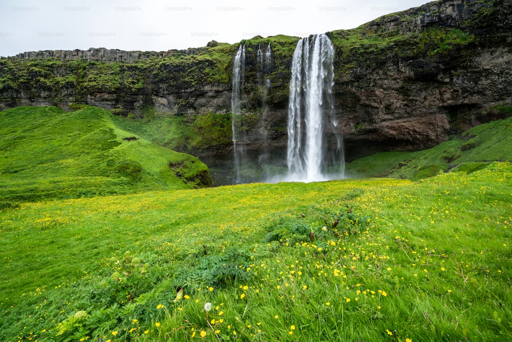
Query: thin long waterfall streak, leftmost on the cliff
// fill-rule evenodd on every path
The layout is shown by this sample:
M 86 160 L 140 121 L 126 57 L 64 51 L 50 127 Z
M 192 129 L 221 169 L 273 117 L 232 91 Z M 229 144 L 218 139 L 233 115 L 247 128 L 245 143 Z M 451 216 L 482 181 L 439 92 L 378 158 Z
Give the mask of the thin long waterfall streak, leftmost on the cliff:
M 231 129 L 233 136 L 234 165 L 237 170 L 237 182 L 240 182 L 240 165 L 243 162 L 243 147 L 238 144 L 240 134 L 240 97 L 244 87 L 245 78 L 245 45 L 238 48 L 233 61 L 233 80 L 231 93 Z

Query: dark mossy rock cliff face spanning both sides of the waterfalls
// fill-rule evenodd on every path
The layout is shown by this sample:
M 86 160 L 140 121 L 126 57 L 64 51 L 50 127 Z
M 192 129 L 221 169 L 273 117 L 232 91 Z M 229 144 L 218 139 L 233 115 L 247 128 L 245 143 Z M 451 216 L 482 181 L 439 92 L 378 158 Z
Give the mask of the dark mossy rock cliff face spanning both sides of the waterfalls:
M 335 106 L 348 157 L 438 144 L 499 117 L 512 102 L 510 0 L 441 0 L 328 34 L 335 45 Z M 254 37 L 247 47 L 242 109 L 248 150 L 286 147 L 288 82 L 297 37 Z M 258 44 L 270 43 L 267 70 Z M 155 108 L 170 115 L 229 117 L 236 45 L 184 51 L 26 52 L 0 59 L 0 109 L 86 103 L 126 115 Z M 267 90 L 262 80 L 269 79 Z M 230 146 L 200 156 L 229 154 Z M 227 157 L 226 157 L 227 158 Z

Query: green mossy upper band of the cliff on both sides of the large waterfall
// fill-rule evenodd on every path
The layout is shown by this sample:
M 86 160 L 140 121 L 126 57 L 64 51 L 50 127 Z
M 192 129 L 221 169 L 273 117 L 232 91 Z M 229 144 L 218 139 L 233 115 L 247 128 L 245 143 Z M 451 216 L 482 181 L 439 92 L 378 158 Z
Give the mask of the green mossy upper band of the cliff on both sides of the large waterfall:
M 454 70 L 472 58 L 477 46 L 508 44 L 503 31 L 506 6 L 502 0 L 467 2 L 463 10 L 457 5 L 453 17 L 448 13 L 450 7 L 444 3 L 429 3 L 382 16 L 354 29 L 329 32 L 336 50 L 337 83 L 345 82 L 349 72 L 357 74 L 354 69 L 379 68 L 390 62 L 427 59 L 439 62 L 445 71 Z M 114 102 L 123 106 L 135 95 L 151 103 L 148 96 L 212 87 L 230 89 L 232 58 L 239 44 L 244 44 L 247 48 L 246 91 L 254 95 L 246 105 L 257 108 L 258 46 L 271 46 L 272 63 L 265 78 L 271 79 L 275 86 L 269 93 L 269 100 L 280 102 L 287 97 L 286 85 L 297 41 L 298 37 L 284 35 L 256 36 L 233 45 L 212 42 L 203 48 L 169 50 L 163 57 L 139 53 L 137 58 L 120 58 L 115 62 L 56 57 L 2 58 L 0 102 L 14 106 L 22 98 L 45 97 L 55 105 L 65 106 L 69 102 L 83 103 L 88 95 L 107 93 L 116 94 Z M 356 83 L 362 85 L 361 82 Z

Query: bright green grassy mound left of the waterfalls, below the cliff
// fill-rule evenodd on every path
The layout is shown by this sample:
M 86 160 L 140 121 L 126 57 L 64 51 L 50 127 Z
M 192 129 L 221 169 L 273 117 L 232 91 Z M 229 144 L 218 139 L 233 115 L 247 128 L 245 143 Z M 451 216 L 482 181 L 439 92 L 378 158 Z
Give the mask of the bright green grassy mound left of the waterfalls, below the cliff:
M 0 112 L 0 199 L 33 201 L 211 185 L 196 157 L 121 130 L 96 107 Z

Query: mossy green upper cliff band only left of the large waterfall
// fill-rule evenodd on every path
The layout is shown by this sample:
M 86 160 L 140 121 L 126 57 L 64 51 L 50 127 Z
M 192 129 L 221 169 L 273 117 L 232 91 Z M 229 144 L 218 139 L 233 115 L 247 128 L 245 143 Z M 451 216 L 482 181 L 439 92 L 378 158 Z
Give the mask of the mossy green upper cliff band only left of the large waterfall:
M 258 44 L 272 46 L 276 83 L 288 82 L 289 63 L 298 38 L 274 36 L 242 41 L 253 56 Z M 231 87 L 232 58 L 239 44 L 218 44 L 195 53 L 169 52 L 166 57 L 148 57 L 129 62 L 61 60 L 57 58 L 0 59 L 0 101 L 15 103 L 20 97 L 45 97 L 56 105 L 84 103 L 88 95 L 116 94 L 115 102 L 123 104 L 128 96 L 162 96 L 204 88 Z M 250 66 L 248 67 L 251 68 Z M 248 77 L 255 77 L 255 66 Z M 253 91 L 257 82 L 248 83 Z M 146 98 L 148 100 L 148 98 Z

